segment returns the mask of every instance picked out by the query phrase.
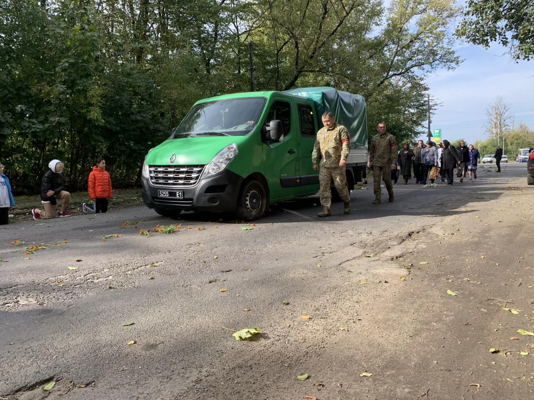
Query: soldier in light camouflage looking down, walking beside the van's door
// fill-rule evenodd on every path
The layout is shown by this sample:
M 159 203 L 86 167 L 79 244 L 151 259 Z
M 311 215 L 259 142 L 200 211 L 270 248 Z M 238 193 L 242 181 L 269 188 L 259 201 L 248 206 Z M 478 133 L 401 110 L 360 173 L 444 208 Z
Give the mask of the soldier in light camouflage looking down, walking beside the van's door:
M 321 188 L 321 205 L 323 211 L 317 217 L 329 217 L 330 205 L 332 204 L 332 192 L 330 181 L 334 180 L 334 186 L 343 200 L 343 212 L 350 212 L 350 197 L 347 190 L 347 177 L 345 175 L 345 165 L 350 151 L 349 131 L 343 125 L 336 124 L 334 115 L 326 112 L 323 114 L 324 128 L 317 132 L 315 146 L 311 161 L 313 169 L 318 170 L 318 159 L 320 158 L 321 169 L 319 171 L 319 185 Z

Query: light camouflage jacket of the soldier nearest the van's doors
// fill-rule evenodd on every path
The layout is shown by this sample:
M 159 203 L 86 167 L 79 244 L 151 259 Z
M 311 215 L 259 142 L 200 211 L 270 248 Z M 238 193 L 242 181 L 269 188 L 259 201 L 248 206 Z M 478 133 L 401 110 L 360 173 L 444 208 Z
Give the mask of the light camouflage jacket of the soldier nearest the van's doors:
M 328 140 L 331 134 L 332 137 Z M 327 140 L 328 143 L 325 147 L 324 154 L 322 154 L 323 146 Z M 320 158 L 321 166 L 330 168 L 339 167 L 339 162 L 342 159 L 347 161 L 349 151 L 350 138 L 347 128 L 339 124 L 335 124 L 330 129 L 323 127 L 317 132 L 315 145 L 313 146 L 313 153 L 311 154 L 311 161 L 313 165 L 317 165 Z

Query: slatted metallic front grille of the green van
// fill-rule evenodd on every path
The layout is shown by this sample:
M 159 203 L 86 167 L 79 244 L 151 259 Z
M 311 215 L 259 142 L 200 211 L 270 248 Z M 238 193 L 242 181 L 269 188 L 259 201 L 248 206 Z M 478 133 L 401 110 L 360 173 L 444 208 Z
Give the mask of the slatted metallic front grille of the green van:
M 153 186 L 185 188 L 197 185 L 204 165 L 149 165 L 148 173 Z

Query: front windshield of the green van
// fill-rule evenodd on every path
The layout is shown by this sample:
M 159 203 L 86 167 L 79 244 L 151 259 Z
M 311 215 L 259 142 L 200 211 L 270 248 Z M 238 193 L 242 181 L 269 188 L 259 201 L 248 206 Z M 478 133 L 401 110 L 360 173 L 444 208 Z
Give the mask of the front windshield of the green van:
M 169 139 L 245 136 L 258 123 L 266 101 L 249 97 L 195 104 Z

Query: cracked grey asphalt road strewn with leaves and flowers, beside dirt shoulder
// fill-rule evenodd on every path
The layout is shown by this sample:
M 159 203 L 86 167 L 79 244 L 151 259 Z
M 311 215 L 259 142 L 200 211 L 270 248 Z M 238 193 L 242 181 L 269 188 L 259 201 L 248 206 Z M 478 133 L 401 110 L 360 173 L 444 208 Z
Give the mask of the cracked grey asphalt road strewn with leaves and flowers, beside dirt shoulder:
M 372 320 L 373 303 L 406 290 L 398 260 L 413 237 L 477 198 L 483 213 L 507 188 L 530 189 L 525 164 L 493 169 L 481 165 L 477 180 L 453 186 L 399 181 L 395 202 L 385 193 L 380 205 L 371 204 L 370 180 L 352 191 L 349 215 L 335 203 L 325 219 L 313 196 L 274 206 L 254 226 L 229 214 L 170 220 L 133 207 L 3 227 L 0 397 L 304 398 L 310 386 L 296 376 L 313 371 L 314 390 L 341 380 L 358 358 L 343 341 L 355 339 L 362 316 Z M 390 285 L 369 291 L 377 277 Z M 263 332 L 255 341 L 232 337 L 253 327 Z M 313 396 L 353 398 L 342 388 Z

